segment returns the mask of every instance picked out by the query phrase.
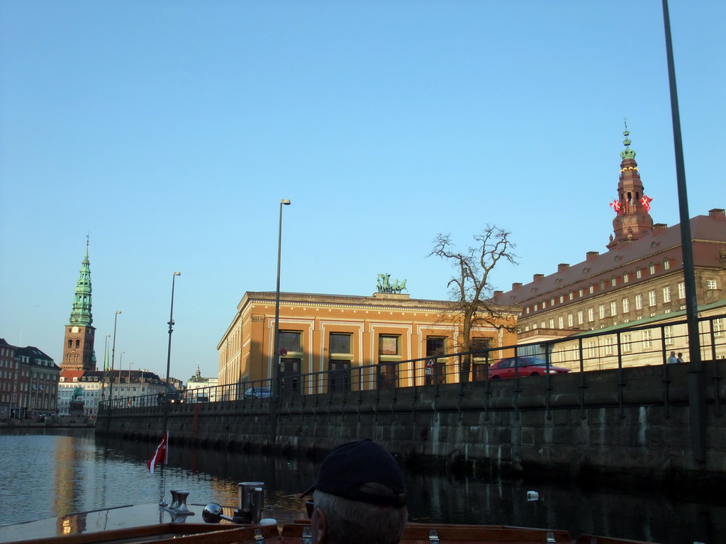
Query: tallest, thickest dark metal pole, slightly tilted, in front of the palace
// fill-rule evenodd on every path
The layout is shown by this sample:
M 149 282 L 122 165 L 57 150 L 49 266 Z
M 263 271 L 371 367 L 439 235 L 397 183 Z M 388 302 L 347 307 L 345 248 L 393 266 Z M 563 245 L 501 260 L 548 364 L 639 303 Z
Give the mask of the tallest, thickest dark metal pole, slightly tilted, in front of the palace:
M 698 299 L 696 295 L 696 271 L 693 266 L 690 217 L 688 214 L 688 192 L 685 184 L 685 165 L 681 139 L 676 73 L 673 62 L 671 22 L 668 0 L 663 0 L 663 22 L 666 31 L 666 56 L 668 59 L 668 82 L 671 92 L 671 115 L 673 119 L 673 144 L 676 155 L 676 183 L 678 207 L 680 210 L 681 250 L 683 255 L 683 280 L 685 283 L 685 313 L 688 322 L 688 404 L 690 406 L 691 440 L 696 462 L 706 461 L 706 376 L 701 360 L 701 339 L 698 337 Z

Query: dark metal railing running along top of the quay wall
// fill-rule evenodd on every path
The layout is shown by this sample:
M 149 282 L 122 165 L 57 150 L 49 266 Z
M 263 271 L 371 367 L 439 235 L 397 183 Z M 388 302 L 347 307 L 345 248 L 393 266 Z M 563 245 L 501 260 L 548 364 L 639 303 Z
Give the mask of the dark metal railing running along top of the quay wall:
M 726 358 L 726 334 L 723 324 L 726 314 L 699 319 L 701 337 L 701 358 L 715 361 Z M 497 380 L 490 376 L 492 364 L 507 357 L 536 357 L 544 360 L 545 379 L 539 381 L 542 387 L 547 411 L 550 397 L 558 380 L 552 367 L 566 368 L 569 374 L 579 374 L 580 405 L 584 410 L 584 392 L 587 389 L 587 376 L 591 371 L 616 370 L 622 376 L 624 368 L 637 366 L 661 366 L 663 379 L 659 392 L 661 402 L 668 410 L 669 391 L 672 379 L 669 377 L 667 359 L 669 353 L 688 353 L 688 330 L 685 319 L 617 326 L 598 331 L 583 331 L 563 339 L 552 339 L 529 344 L 492 347 L 466 353 L 446 353 L 424 358 L 369 363 L 348 366 L 335 370 L 311 372 L 308 374 L 281 374 L 279 382 L 280 400 L 290 395 L 330 395 L 354 397 L 359 392 L 370 390 L 390 390 L 407 387 L 441 387 L 446 384 L 483 382 L 485 395 Z M 688 364 L 686 361 L 685 364 Z M 719 393 L 723 376 L 715 364 L 706 365 L 707 379 L 713 390 L 714 413 L 722 415 L 725 399 Z M 514 394 L 520 391 L 519 380 L 529 377 L 515 368 Z M 529 378 L 528 378 L 529 379 Z M 506 380 L 503 380 L 506 381 Z M 617 380 L 619 402 L 624 403 L 627 384 L 622 377 Z M 203 387 L 181 392 L 178 396 L 144 395 L 139 397 L 120 397 L 106 400 L 99 406 L 99 415 L 110 407 L 112 410 L 160 406 L 185 403 L 213 403 L 230 400 L 265 402 L 272 395 L 272 381 L 239 382 Z M 517 403 L 513 403 L 517 405 Z

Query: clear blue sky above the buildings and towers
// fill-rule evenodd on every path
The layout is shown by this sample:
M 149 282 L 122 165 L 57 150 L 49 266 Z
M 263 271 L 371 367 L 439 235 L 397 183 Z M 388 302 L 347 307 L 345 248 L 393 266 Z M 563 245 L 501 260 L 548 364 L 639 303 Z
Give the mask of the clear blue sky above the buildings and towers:
M 690 215 L 726 207 L 726 2 L 671 0 Z M 444 300 L 436 234 L 605 251 L 623 119 L 679 222 L 660 0 L 0 3 L 0 337 L 62 359 L 90 233 L 97 356 L 216 375 L 245 291 Z M 22 335 L 22 336 L 21 336 Z

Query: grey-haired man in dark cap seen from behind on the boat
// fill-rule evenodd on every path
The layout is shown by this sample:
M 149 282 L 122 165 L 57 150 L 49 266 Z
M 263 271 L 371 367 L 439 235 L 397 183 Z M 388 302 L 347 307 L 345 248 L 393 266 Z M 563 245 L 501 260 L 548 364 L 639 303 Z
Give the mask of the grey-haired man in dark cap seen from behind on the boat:
M 348 442 L 325 458 L 303 497 L 313 544 L 396 544 L 408 511 L 404 474 L 372 440 Z

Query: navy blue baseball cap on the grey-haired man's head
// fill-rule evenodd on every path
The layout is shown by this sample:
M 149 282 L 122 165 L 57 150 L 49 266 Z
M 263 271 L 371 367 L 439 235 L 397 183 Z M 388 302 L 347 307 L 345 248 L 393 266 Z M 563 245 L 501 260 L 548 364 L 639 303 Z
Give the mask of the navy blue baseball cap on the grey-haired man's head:
M 395 495 L 372 495 L 360 490 L 372 482 L 390 487 Z M 302 496 L 314 490 L 378 506 L 406 505 L 406 484 L 399 463 L 386 448 L 370 439 L 348 442 L 330 452 L 313 486 Z

